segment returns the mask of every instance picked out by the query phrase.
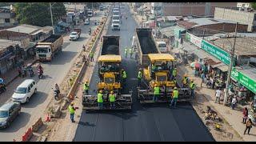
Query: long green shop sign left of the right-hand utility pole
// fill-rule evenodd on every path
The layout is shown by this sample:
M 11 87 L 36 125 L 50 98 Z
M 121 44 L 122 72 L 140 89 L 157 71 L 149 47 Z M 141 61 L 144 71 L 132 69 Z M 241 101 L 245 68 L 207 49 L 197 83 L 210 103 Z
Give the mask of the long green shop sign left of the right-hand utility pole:
M 218 58 L 220 61 L 224 62 L 226 65 L 230 65 L 230 54 L 222 50 L 218 46 L 214 46 L 205 40 L 202 40 L 202 50 L 206 50 L 207 53 Z

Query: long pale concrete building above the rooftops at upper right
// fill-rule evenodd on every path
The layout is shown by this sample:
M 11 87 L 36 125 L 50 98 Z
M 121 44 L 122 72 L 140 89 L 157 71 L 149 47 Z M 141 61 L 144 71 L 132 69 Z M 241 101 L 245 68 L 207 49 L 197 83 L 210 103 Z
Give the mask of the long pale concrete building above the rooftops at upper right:
M 256 26 L 256 13 L 254 10 L 242 10 L 241 8 L 233 10 L 226 8 L 215 8 L 214 18 L 235 20 L 241 24 L 248 25 L 247 31 L 254 31 Z

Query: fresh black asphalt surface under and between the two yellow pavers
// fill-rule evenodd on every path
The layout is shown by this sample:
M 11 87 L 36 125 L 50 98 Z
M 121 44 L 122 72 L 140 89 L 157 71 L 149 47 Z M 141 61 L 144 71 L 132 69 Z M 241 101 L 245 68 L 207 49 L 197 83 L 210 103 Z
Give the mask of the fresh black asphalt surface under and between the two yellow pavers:
M 120 31 L 108 30 L 107 35 L 121 36 L 121 53 L 124 56 L 124 47 L 131 45 L 135 33 L 136 23 L 130 14 L 128 6 L 121 9 L 128 14 L 128 19 L 122 19 Z M 109 26 L 110 27 L 110 26 Z M 122 57 L 124 58 L 124 57 Z M 134 59 L 125 58 L 122 62 L 127 72 L 127 86 L 135 91 L 138 68 Z M 95 94 L 96 82 L 99 81 L 98 67 L 95 66 L 90 94 Z M 74 136 L 74 142 L 82 141 L 194 141 L 212 142 L 206 126 L 189 103 L 178 103 L 177 109 L 163 106 L 142 107 L 133 95 L 133 108 L 126 112 L 100 112 L 86 114 L 84 110 Z

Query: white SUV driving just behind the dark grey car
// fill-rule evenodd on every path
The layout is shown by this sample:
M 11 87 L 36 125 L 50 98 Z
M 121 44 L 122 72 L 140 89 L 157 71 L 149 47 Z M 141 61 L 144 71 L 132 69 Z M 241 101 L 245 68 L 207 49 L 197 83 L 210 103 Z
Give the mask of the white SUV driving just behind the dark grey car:
M 12 95 L 13 102 L 29 102 L 30 97 L 36 94 L 38 90 L 38 84 L 33 79 L 26 79 L 20 84 Z

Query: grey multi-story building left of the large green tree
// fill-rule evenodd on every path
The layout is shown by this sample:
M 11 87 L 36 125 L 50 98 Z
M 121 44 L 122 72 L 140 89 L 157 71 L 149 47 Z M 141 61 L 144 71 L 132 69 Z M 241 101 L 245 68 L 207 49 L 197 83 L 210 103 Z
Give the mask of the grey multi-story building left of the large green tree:
M 0 28 L 17 24 L 15 13 L 10 10 L 10 6 L 0 7 Z

